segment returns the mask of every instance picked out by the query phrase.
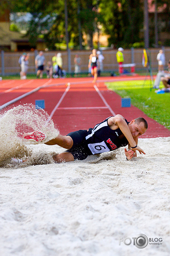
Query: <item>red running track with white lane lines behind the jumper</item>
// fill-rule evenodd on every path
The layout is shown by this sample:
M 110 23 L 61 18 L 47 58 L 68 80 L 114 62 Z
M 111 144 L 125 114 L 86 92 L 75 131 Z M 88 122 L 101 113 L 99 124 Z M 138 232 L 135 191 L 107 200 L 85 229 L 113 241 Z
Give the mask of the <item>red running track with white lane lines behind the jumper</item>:
M 105 82 L 141 80 L 144 77 L 4 80 L 0 82 L 0 109 L 35 100 L 45 100 L 45 111 L 57 124 L 60 134 L 89 129 L 109 116 L 121 114 L 127 121 L 142 116 L 149 128 L 141 137 L 169 137 L 170 131 L 147 117 L 138 108 L 121 107 L 121 97 L 107 90 Z M 9 106 L 8 103 L 12 103 Z

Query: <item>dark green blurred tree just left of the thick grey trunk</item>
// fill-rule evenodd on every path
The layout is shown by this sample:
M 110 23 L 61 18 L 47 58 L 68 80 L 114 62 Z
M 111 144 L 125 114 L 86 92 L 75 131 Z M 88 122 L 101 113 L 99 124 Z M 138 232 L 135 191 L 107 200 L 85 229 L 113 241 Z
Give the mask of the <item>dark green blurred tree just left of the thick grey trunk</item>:
M 109 44 L 128 47 L 140 41 L 143 11 L 139 0 L 100 0 L 99 7 L 105 32 L 110 35 Z

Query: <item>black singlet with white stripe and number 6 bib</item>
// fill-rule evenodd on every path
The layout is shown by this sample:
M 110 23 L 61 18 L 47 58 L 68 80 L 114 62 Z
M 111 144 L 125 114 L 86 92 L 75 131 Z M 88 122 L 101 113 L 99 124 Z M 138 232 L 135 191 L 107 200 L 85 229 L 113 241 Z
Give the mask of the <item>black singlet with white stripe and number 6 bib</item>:
M 92 154 L 112 151 L 126 146 L 129 143 L 125 136 L 120 139 L 119 136 L 122 132 L 119 128 L 116 130 L 110 129 L 107 123 L 109 118 L 110 117 L 102 121 L 100 124 L 97 124 L 93 129 L 90 128 L 87 131 L 85 139 Z M 129 124 L 126 119 L 125 121 Z

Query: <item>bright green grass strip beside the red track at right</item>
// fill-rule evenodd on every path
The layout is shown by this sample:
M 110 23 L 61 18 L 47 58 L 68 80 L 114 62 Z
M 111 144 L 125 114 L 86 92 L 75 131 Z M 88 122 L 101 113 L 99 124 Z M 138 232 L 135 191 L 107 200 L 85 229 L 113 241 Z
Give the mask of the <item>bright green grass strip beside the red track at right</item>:
M 150 90 L 149 80 L 112 82 L 107 87 L 122 98 L 131 98 L 132 105 L 170 130 L 170 93 L 157 94 L 157 89 Z

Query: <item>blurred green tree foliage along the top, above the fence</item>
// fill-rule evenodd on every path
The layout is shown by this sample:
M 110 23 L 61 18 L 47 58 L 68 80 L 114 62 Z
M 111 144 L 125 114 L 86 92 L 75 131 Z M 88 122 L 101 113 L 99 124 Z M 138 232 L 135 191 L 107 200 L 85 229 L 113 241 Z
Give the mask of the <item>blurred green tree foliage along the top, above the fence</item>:
M 154 3 L 154 0 L 153 0 Z M 166 4 L 163 22 L 160 30 L 170 31 L 170 1 L 157 0 L 157 5 Z M 33 19 L 29 24 L 27 36 L 34 46 L 40 34 L 44 35 L 49 49 L 55 49 L 55 44 L 65 40 L 65 0 L 1 0 L 0 13 L 9 7 L 13 12 L 30 12 Z M 79 11 L 78 11 L 78 6 Z M 140 32 L 143 29 L 143 1 L 141 0 L 67 0 L 68 33 L 74 46 L 79 45 L 79 29 L 88 35 L 88 44 L 93 47 L 92 36 L 97 30 L 97 24 L 102 25 L 102 31 L 110 35 L 109 45 L 115 47 L 138 48 L 141 42 Z M 53 17 L 56 17 L 53 20 Z M 47 18 L 48 17 L 48 18 Z M 154 39 L 154 29 L 150 29 L 150 41 Z M 168 43 L 168 42 L 167 42 Z M 134 45 L 133 45 L 134 44 Z M 143 47 L 143 45 L 140 45 Z

